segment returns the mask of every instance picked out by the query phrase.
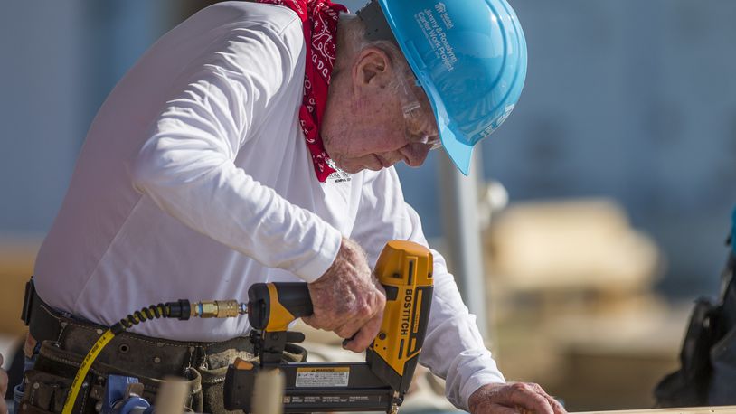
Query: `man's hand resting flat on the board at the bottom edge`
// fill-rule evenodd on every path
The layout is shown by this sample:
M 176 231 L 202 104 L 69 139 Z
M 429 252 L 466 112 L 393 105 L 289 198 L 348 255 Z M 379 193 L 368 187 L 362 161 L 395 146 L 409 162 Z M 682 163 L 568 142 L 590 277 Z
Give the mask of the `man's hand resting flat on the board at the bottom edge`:
M 472 414 L 565 414 L 562 405 L 529 382 L 509 382 L 485 385 L 467 400 Z

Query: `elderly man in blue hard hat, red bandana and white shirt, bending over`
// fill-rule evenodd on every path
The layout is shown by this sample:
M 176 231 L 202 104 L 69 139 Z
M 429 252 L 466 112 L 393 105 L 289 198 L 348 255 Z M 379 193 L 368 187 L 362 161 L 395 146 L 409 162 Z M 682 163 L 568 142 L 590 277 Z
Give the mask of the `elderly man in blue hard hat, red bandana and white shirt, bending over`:
M 380 0 L 360 17 L 326 0 L 262 3 L 195 14 L 100 108 L 36 262 L 56 322 L 32 320 L 29 343 L 56 346 L 43 343 L 26 373 L 27 407 L 60 409 L 101 332 L 91 324 L 181 297 L 243 298 L 255 282 L 307 282 L 307 324 L 363 351 L 385 304 L 378 253 L 392 239 L 427 243 L 392 165 L 444 146 L 467 171 L 524 83 L 505 0 Z M 434 270 L 420 363 L 447 379 L 448 399 L 474 413 L 563 412 L 539 386 L 505 382 L 439 254 Z M 248 331 L 245 318 L 136 326 L 100 354 L 75 408 L 94 410 L 107 366 L 186 373 L 193 408 L 221 412 L 223 370 L 252 351 Z

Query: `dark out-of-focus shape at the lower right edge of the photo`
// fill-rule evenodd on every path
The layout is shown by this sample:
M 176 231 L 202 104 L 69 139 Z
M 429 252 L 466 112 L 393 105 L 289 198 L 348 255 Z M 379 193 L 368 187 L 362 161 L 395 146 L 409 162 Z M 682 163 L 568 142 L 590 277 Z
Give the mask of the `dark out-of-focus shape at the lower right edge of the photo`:
M 734 215 L 736 227 L 736 215 Z M 733 243 L 734 232 L 727 244 Z M 695 304 L 680 353 L 680 370 L 656 385 L 658 407 L 736 404 L 736 247 L 722 273 L 718 304 Z

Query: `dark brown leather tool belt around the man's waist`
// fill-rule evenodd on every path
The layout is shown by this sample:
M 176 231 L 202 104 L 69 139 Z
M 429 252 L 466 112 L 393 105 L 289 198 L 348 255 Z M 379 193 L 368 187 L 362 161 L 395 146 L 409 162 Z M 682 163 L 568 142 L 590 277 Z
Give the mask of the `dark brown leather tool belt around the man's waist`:
M 20 412 L 61 412 L 80 363 L 108 327 L 54 310 L 35 292 L 33 279 L 26 285 L 23 320 L 29 326 L 29 334 L 42 345 L 33 369 L 24 373 Z M 190 386 L 188 409 L 226 412 L 222 390 L 227 367 L 236 357 L 257 360 L 249 338 L 198 343 L 129 332 L 118 334 L 92 364 L 77 407 L 81 407 L 82 413 L 98 412 L 107 377 L 118 374 L 136 377 L 144 384 L 142 397 L 152 403 L 166 377 L 182 377 Z M 297 345 L 284 353 L 287 362 L 304 362 L 306 358 L 307 352 Z

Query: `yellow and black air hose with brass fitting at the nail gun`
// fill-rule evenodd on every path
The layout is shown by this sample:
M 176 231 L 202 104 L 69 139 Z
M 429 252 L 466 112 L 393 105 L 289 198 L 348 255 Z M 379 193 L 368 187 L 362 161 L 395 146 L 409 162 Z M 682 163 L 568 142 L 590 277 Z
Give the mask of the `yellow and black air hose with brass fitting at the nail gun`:
M 115 337 L 117 334 L 126 332 L 127 329 L 144 323 L 149 320 L 159 318 L 176 318 L 181 321 L 185 321 L 190 317 L 235 317 L 248 313 L 248 306 L 242 304 L 236 300 L 217 300 L 217 301 L 206 301 L 197 302 L 194 306 L 191 306 L 190 302 L 186 299 L 181 299 L 176 302 L 166 302 L 165 304 L 151 305 L 144 307 L 140 310 L 133 312 L 131 315 L 127 315 L 125 318 L 110 326 L 110 328 L 99 337 L 97 342 L 92 345 L 90 352 L 84 357 L 80 364 L 80 369 L 74 376 L 74 381 L 71 382 L 71 389 L 67 395 L 64 408 L 61 410 L 62 414 L 71 414 L 71 410 L 74 408 L 74 403 L 77 400 L 77 396 L 80 393 L 82 381 L 90 372 L 92 363 L 95 362 L 102 349 Z

